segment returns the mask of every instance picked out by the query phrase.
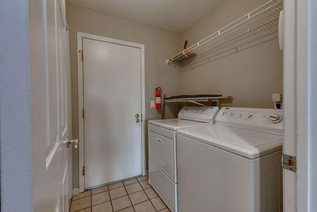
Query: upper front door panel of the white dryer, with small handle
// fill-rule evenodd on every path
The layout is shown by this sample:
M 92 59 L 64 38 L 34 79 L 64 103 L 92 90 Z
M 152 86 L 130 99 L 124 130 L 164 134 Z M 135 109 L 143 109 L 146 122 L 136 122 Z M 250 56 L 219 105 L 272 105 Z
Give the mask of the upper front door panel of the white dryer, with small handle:
M 149 131 L 149 158 L 161 169 L 174 177 L 174 141 L 153 131 Z M 173 179 L 174 180 L 174 179 Z

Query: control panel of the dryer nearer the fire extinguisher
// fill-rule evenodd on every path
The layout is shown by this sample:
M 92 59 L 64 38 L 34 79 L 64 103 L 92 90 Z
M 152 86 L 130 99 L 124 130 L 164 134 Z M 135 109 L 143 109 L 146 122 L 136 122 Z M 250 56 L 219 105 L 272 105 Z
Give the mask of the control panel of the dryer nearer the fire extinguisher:
M 214 119 L 219 112 L 218 107 L 210 106 L 185 106 L 179 113 L 178 118 L 193 121 L 214 123 Z

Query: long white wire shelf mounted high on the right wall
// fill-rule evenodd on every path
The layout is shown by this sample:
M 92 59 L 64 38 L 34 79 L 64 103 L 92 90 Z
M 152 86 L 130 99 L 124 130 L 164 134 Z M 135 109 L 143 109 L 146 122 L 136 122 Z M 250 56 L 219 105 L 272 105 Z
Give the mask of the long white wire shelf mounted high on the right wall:
M 238 20 L 211 34 L 207 38 L 199 41 L 188 49 L 178 53 L 170 59 L 167 59 L 166 64 L 170 62 L 184 63 L 191 58 L 219 47 L 222 44 L 259 27 L 267 24 L 272 26 L 276 25 L 278 24 L 279 13 L 282 9 L 282 0 L 270 0 L 250 13 L 242 16 Z

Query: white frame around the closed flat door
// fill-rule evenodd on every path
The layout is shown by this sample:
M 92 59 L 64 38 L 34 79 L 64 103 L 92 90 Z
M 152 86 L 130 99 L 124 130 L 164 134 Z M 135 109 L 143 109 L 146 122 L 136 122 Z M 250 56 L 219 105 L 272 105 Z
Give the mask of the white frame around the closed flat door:
M 85 176 L 82 175 L 82 169 L 85 165 L 84 149 L 84 119 L 82 118 L 82 109 L 84 108 L 84 84 L 83 84 L 83 62 L 81 51 L 83 49 L 83 38 L 103 41 L 118 45 L 130 46 L 141 50 L 141 146 L 142 146 L 142 175 L 146 175 L 146 149 L 145 149 L 145 62 L 144 62 L 144 44 L 132 43 L 128 41 L 107 38 L 98 35 L 77 32 L 77 66 L 78 66 L 78 131 L 79 131 L 79 192 L 85 190 Z

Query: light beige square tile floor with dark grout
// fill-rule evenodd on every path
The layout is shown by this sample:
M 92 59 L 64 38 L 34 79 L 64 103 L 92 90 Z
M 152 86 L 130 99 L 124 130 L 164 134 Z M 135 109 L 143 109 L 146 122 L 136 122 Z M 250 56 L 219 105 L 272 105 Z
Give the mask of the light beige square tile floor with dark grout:
M 74 195 L 70 212 L 170 212 L 142 176 Z

